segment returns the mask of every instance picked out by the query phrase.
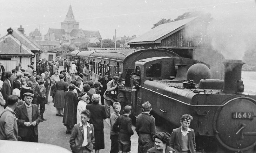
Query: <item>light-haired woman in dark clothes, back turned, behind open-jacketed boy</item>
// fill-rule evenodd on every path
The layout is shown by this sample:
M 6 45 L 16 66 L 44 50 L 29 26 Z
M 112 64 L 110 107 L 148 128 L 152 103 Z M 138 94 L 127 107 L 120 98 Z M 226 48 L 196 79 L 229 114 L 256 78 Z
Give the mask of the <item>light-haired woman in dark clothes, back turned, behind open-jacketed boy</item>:
M 93 94 L 92 96 L 92 104 L 88 104 L 86 109 L 92 113 L 89 123 L 93 124 L 94 126 L 94 137 L 95 137 L 95 144 L 93 149 L 95 149 L 95 153 L 99 153 L 100 149 L 104 149 L 104 125 L 103 119 L 107 118 L 105 106 L 100 105 L 100 95 Z

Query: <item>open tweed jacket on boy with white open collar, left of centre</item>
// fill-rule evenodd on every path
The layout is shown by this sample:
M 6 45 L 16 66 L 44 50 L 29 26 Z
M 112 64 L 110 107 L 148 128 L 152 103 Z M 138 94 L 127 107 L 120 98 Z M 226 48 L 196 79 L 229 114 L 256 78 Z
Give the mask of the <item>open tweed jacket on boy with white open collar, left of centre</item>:
M 94 144 L 94 129 L 93 129 L 93 124 L 87 123 L 90 125 L 87 126 L 87 148 L 90 151 L 93 151 L 93 144 Z M 83 126 L 79 126 L 80 123 L 74 125 L 74 129 L 72 131 L 69 143 L 70 143 L 70 148 L 74 153 L 82 153 L 82 144 L 84 140 L 84 131 L 83 131 Z

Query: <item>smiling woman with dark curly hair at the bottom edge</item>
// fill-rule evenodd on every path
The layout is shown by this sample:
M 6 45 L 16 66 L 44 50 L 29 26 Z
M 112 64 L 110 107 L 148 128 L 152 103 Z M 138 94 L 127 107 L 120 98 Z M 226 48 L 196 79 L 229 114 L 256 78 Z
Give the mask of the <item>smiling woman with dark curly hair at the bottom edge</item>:
M 164 133 L 158 133 L 153 136 L 155 146 L 150 148 L 147 153 L 175 153 L 175 150 L 169 147 L 170 137 Z

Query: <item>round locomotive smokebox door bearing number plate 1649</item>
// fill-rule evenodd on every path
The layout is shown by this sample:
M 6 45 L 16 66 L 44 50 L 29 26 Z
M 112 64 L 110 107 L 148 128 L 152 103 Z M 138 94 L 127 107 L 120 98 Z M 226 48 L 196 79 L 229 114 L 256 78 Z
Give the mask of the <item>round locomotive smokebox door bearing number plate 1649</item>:
M 256 101 L 234 96 L 222 103 L 214 115 L 214 132 L 222 146 L 245 151 L 256 145 Z

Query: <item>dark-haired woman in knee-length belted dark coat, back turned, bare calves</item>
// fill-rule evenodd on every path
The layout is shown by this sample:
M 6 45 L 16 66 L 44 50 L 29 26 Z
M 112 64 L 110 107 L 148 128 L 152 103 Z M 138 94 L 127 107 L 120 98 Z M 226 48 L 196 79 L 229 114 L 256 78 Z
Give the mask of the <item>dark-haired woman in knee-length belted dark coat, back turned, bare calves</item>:
M 68 83 L 64 82 L 64 75 L 60 74 L 60 81 L 56 82 L 56 88 L 57 91 L 55 93 L 54 96 L 54 105 L 53 107 L 56 107 L 56 116 L 63 116 L 63 108 L 64 108 L 64 103 L 65 103 L 65 99 L 64 99 L 64 94 L 65 91 L 68 90 Z

